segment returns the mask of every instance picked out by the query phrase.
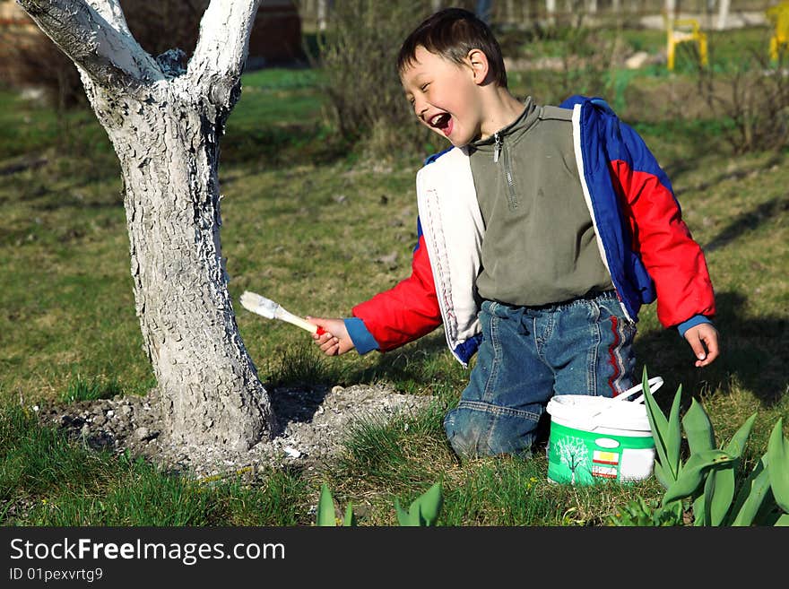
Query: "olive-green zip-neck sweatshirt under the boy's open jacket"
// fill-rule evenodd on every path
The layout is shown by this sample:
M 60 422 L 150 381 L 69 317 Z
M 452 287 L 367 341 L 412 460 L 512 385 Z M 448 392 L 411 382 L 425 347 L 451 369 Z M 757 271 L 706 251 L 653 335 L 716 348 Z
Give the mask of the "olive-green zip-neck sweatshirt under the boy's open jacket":
M 539 107 L 469 145 L 485 222 L 483 299 L 539 306 L 611 290 L 573 151 L 572 111 Z

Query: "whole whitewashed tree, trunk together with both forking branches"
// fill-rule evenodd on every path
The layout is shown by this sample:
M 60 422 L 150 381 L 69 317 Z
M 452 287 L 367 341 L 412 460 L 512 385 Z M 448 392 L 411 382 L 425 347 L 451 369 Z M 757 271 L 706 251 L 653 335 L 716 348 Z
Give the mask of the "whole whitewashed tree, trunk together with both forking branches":
M 246 449 L 275 429 L 221 257 L 219 139 L 259 0 L 212 0 L 186 69 L 148 55 L 118 0 L 17 0 L 82 73 L 120 160 L 134 299 L 166 432 Z

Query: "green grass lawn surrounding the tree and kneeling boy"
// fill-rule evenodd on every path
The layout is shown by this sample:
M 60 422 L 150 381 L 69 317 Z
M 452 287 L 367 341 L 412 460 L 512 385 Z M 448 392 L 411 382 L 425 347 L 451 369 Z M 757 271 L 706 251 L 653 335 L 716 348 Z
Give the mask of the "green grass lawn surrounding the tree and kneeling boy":
M 660 47 L 661 39 L 642 33 L 628 32 L 627 42 Z M 715 56 L 724 55 L 722 45 L 711 41 Z M 322 122 L 318 75 L 245 75 L 221 143 L 222 247 L 234 300 L 256 290 L 299 315 L 348 316 L 410 272 L 413 176 L 424 154 L 360 158 Z M 516 93 L 539 101 L 570 93 L 557 85 L 566 79 L 512 75 Z M 683 107 L 696 114 L 678 116 L 666 97 L 692 96 L 690 67 L 618 71 L 615 79 L 611 103 L 645 136 L 705 247 L 724 343 L 722 358 L 699 371 L 649 306 L 639 322 L 638 370 L 665 379 L 661 403 L 679 385 L 685 406 L 691 395 L 701 399 L 719 440 L 757 411 L 746 452 L 752 463 L 776 420 L 789 418 L 789 153 L 734 157 L 722 139 L 724 121 L 690 101 Z M 606 95 L 604 85 L 598 90 Z M 347 432 L 342 455 L 320 473 L 230 473 L 201 484 L 42 428 L 34 404 L 145 394 L 155 382 L 134 316 L 117 160 L 106 136 L 91 113 L 56 115 L 10 91 L 0 91 L 0 107 L 0 522 L 308 525 L 322 481 L 342 507 L 353 504 L 362 525 L 396 524 L 394 498 L 407 506 L 435 481 L 444 483 L 443 525 L 603 525 L 631 498 L 660 496 L 654 480 L 553 485 L 540 453 L 458 463 L 442 419 L 467 371 L 440 330 L 385 355 L 325 359 L 300 330 L 238 309 L 267 387 L 387 383 L 434 395 L 429 411 Z

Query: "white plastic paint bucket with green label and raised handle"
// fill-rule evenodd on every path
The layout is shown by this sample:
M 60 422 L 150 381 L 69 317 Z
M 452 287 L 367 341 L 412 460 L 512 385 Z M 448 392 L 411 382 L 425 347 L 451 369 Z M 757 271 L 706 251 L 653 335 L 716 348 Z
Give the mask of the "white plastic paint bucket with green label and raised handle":
M 649 379 L 655 392 L 663 378 Z M 655 440 L 646 415 L 644 395 L 634 386 L 614 397 L 559 394 L 548 403 L 551 436 L 548 479 L 573 485 L 599 481 L 641 481 L 652 475 Z

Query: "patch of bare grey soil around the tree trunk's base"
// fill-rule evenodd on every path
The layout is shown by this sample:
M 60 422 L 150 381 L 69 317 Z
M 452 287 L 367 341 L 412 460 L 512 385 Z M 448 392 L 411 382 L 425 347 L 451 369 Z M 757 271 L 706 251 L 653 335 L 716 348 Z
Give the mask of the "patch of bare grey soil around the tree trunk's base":
M 97 450 L 128 451 L 164 470 L 205 478 L 262 466 L 320 467 L 337 455 L 354 425 L 419 411 L 432 401 L 384 385 L 279 388 L 269 394 L 280 430 L 247 452 L 172 444 L 163 431 L 155 394 L 58 403 L 39 409 L 39 418 Z

